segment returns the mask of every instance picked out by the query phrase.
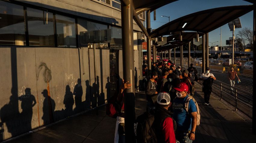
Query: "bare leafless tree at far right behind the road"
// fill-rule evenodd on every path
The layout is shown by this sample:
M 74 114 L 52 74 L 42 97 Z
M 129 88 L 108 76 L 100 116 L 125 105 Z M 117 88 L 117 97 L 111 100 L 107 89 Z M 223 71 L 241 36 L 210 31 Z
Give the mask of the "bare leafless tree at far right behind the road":
M 242 28 L 242 30 L 238 31 L 238 34 L 236 35 L 240 39 L 242 39 L 243 44 L 245 45 L 245 42 L 248 42 L 251 44 L 251 49 L 252 49 L 252 44 L 253 44 L 253 31 L 251 28 Z

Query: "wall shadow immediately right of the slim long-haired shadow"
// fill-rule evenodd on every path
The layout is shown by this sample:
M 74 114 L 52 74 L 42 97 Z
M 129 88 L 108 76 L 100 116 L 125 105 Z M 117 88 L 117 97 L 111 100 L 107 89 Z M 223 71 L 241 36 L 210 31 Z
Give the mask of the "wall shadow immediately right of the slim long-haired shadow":
M 81 112 L 83 111 L 82 106 L 82 96 L 83 96 L 83 87 L 81 85 L 81 79 L 77 79 L 77 84 L 74 87 L 73 95 L 75 95 L 75 104 L 76 108 L 74 109 L 74 112 Z

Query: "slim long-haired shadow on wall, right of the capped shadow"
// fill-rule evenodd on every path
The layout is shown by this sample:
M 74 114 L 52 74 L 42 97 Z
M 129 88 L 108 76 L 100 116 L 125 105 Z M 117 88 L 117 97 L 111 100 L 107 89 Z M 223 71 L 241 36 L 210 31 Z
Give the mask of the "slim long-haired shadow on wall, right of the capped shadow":
M 64 115 L 65 117 L 69 117 L 70 115 L 73 114 L 73 105 L 74 105 L 74 98 L 73 98 L 72 92 L 70 91 L 69 85 L 66 86 L 66 92 L 65 92 L 63 104 L 65 105 Z

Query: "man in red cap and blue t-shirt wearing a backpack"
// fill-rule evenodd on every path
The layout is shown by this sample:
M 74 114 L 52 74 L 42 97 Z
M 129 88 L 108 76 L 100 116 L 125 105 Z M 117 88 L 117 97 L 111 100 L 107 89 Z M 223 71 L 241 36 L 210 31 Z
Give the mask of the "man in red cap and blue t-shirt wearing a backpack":
M 188 86 L 180 83 L 176 90 L 176 98 L 173 100 L 173 119 L 177 123 L 176 139 L 182 143 L 192 143 L 195 140 L 195 128 L 197 119 L 197 109 L 195 102 L 189 100 L 188 112 L 185 110 L 185 102 L 188 98 Z

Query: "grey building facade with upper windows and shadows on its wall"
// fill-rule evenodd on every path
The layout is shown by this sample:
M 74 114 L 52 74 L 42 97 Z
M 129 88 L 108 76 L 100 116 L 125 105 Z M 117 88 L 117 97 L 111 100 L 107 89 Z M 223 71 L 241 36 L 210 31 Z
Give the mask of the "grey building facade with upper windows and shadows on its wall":
M 119 0 L 0 0 L 0 21 L 0 141 L 116 94 L 125 40 Z M 138 87 L 141 30 L 133 28 Z

